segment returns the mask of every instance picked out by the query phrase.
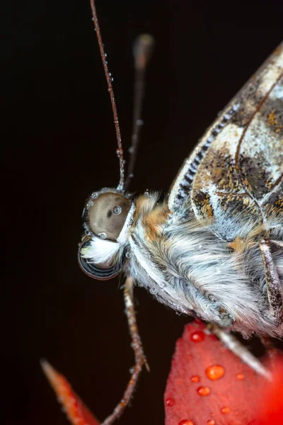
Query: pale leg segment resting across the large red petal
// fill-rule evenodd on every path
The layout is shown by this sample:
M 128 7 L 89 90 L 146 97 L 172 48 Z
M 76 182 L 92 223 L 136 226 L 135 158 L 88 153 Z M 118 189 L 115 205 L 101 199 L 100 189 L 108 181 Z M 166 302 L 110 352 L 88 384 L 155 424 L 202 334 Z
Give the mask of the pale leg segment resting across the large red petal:
M 262 363 L 260 363 L 258 358 L 253 356 L 253 354 L 250 353 L 250 351 L 248 351 L 248 348 L 246 348 L 246 346 L 241 344 L 241 342 L 238 341 L 238 339 L 236 339 L 236 337 L 233 336 L 231 332 L 225 331 L 218 325 L 212 324 L 212 323 L 209 323 L 207 325 L 207 329 L 209 329 L 209 331 L 212 332 L 212 334 L 217 336 L 217 338 L 220 339 L 222 344 L 224 344 L 224 346 L 229 348 L 229 350 L 232 351 L 232 353 L 234 353 L 238 358 L 241 358 L 241 360 L 247 365 L 249 365 L 250 368 L 255 370 L 255 372 L 264 376 L 265 378 L 267 378 L 267 380 L 272 379 L 272 375 L 270 371 L 267 370 L 265 366 L 262 365 Z

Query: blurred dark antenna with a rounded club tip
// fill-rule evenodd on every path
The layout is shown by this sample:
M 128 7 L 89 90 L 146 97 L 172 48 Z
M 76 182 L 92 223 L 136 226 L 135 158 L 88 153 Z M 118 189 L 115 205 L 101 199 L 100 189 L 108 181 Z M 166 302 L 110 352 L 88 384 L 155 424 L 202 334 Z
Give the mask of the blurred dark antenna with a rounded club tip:
M 125 190 L 129 187 L 133 178 L 134 164 L 137 159 L 137 149 L 139 147 L 139 133 L 143 121 L 141 120 L 142 103 L 144 100 L 144 76 L 146 66 L 151 57 L 151 52 L 154 47 L 154 38 L 149 34 L 141 34 L 135 40 L 133 46 L 134 54 L 134 113 L 132 123 L 132 142 L 129 147 L 129 168 L 127 172 L 127 180 Z

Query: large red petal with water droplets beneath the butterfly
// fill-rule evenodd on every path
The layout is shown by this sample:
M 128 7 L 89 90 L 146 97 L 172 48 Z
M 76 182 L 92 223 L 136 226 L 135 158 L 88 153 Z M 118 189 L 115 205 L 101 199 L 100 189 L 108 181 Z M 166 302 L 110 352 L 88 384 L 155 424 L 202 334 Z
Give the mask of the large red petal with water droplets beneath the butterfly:
M 165 392 L 166 425 L 258 425 L 260 395 L 270 385 L 204 331 L 194 322 L 177 341 Z

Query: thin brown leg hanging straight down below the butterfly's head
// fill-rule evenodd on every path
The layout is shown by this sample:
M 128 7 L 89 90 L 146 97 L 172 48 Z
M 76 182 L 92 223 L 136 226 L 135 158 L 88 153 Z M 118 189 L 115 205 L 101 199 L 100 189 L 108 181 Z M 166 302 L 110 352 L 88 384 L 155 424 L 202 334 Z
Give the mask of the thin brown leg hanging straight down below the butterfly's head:
M 101 425 L 110 425 L 120 417 L 124 412 L 125 407 L 129 404 L 129 400 L 132 398 L 134 389 L 137 385 L 137 380 L 143 365 L 146 365 L 146 369 L 149 370 L 149 365 L 146 363 L 146 356 L 144 356 L 144 349 L 141 344 L 141 338 L 139 336 L 139 330 L 137 329 L 137 319 L 134 312 L 134 298 L 133 298 L 133 281 L 132 278 L 127 278 L 125 282 L 124 298 L 126 306 L 126 314 L 129 324 L 129 334 L 132 338 L 132 348 L 134 350 L 135 365 L 133 368 L 132 376 L 127 384 L 127 388 L 124 392 L 120 403 L 117 404 L 114 411 L 108 418 L 103 421 Z

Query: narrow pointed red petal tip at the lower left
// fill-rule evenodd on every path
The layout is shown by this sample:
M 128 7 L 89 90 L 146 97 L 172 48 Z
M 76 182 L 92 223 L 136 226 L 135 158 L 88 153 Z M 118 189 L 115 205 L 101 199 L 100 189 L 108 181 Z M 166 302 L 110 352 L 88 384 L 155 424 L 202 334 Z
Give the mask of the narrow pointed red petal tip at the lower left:
M 59 402 L 64 407 L 71 424 L 99 425 L 98 420 L 91 414 L 81 399 L 72 390 L 71 385 L 63 375 L 57 372 L 47 361 L 42 361 L 42 369 L 56 392 Z

